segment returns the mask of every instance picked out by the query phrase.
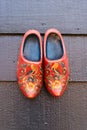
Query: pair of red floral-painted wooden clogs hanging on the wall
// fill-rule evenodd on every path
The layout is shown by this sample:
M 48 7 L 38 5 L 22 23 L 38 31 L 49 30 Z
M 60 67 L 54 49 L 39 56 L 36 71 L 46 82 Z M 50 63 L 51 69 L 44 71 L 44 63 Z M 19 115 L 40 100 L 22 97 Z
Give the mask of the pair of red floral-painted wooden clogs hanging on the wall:
M 44 43 L 38 31 L 27 31 L 22 39 L 17 66 L 18 84 L 22 93 L 34 98 L 40 92 L 43 79 L 53 96 L 61 96 L 69 79 L 65 44 L 60 32 L 49 29 Z

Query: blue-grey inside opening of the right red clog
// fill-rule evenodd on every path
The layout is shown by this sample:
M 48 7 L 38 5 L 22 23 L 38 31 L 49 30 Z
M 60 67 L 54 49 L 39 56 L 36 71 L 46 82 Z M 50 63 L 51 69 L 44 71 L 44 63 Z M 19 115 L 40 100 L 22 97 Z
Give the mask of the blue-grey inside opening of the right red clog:
M 46 57 L 49 60 L 57 60 L 63 56 L 63 46 L 60 37 L 50 33 L 46 42 Z

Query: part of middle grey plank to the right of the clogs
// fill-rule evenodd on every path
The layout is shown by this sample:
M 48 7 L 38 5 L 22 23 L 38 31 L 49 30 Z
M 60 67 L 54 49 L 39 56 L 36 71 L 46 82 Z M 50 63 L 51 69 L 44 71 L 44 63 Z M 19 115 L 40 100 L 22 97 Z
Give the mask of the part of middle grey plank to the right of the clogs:
M 87 81 L 87 36 L 64 37 L 70 63 L 70 80 Z

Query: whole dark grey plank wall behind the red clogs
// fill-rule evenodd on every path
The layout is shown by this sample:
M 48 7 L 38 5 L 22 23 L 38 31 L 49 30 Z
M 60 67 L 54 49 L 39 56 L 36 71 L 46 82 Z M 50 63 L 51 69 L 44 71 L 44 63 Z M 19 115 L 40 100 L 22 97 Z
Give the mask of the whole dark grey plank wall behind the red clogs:
M 26 99 L 16 80 L 22 36 L 53 27 L 69 56 L 67 91 L 55 98 L 43 85 Z M 87 0 L 0 0 L 0 130 L 87 130 Z

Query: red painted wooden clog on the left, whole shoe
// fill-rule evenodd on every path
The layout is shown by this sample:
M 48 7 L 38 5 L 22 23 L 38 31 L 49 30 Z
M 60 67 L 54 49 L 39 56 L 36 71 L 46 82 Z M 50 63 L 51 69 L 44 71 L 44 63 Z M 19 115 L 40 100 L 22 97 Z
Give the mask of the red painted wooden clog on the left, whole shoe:
M 23 36 L 17 65 L 18 84 L 27 98 L 37 96 L 42 77 L 42 39 L 38 31 L 29 30 Z

